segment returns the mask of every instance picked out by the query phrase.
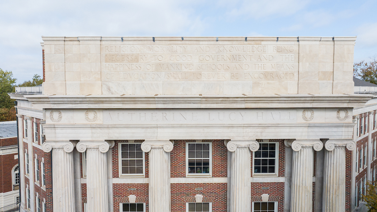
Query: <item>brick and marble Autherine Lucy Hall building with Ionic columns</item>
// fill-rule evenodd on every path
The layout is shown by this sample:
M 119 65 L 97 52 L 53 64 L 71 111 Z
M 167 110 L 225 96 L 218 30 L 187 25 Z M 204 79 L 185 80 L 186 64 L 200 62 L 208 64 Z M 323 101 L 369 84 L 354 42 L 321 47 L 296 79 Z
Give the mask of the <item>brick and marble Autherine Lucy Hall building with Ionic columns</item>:
M 353 210 L 355 40 L 43 37 L 21 211 Z

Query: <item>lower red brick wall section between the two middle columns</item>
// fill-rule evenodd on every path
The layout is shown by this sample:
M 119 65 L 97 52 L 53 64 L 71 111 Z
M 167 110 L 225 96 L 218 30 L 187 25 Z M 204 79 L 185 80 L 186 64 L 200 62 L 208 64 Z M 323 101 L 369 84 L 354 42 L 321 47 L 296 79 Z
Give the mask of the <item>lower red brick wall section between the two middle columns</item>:
M 197 187 L 203 190 L 195 190 Z M 196 194 L 202 194 L 204 198 L 213 198 L 212 211 L 227 211 L 227 183 L 174 183 L 170 185 L 170 190 L 172 212 L 185 211 L 185 198 L 195 197 Z

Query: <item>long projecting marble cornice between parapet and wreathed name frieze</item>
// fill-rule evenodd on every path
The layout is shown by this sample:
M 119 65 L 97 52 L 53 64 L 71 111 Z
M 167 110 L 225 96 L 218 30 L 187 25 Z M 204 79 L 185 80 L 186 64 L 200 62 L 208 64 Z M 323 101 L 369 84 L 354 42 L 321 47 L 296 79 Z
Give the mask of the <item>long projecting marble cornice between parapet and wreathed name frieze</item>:
M 25 95 L 37 108 L 354 108 L 372 95 Z

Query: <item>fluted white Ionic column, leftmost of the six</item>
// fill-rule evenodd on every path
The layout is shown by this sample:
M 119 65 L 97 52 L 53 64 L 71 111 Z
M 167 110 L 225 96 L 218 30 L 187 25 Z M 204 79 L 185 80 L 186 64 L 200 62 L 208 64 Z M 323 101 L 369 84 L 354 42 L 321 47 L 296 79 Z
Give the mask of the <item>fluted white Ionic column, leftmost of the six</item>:
M 52 150 L 52 207 L 54 212 L 75 212 L 73 149 L 76 141 L 45 141 L 44 152 Z

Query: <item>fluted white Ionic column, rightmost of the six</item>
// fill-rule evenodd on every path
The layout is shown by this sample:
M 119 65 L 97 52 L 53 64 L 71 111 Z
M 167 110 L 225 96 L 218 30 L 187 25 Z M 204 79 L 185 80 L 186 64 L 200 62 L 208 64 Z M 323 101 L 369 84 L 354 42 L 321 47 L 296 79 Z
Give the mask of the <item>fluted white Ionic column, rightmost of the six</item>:
M 323 212 L 343 212 L 346 204 L 346 147 L 356 148 L 353 140 L 328 140 L 325 143 L 323 171 Z

